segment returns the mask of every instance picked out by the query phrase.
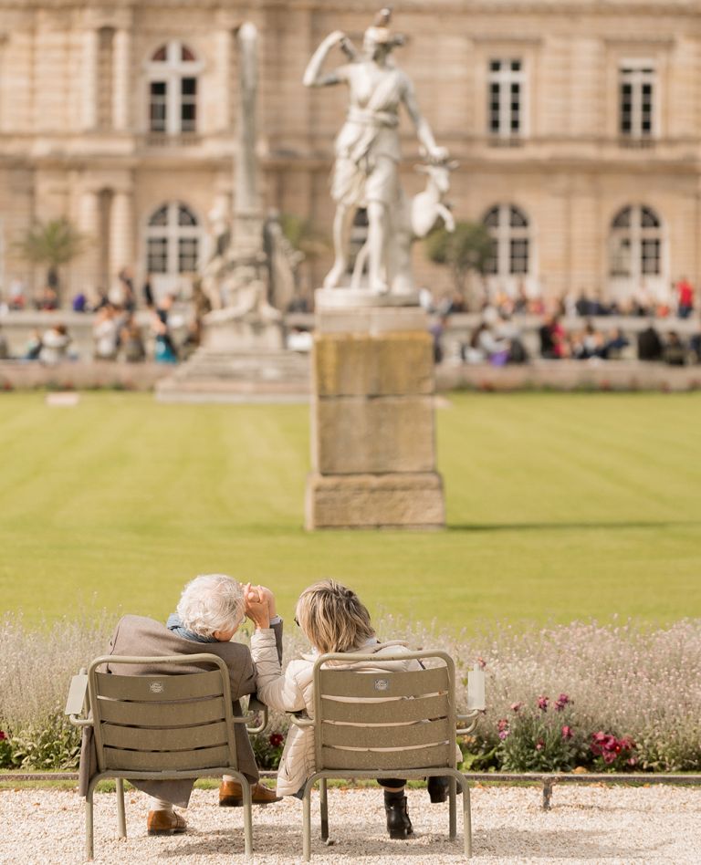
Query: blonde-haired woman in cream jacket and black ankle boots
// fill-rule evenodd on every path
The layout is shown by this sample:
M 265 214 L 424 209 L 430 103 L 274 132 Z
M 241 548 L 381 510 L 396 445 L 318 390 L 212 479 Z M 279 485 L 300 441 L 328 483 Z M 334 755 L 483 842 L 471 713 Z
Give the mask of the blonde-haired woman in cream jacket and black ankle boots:
M 325 579 L 299 596 L 295 620 L 311 643 L 314 653 L 288 663 L 282 672 L 276 651 L 275 634 L 269 630 L 269 615 L 275 612 L 275 599 L 269 589 L 262 586 L 249 590 L 247 607 L 256 624 L 251 638 L 251 652 L 256 662 L 258 696 L 279 712 L 314 714 L 313 667 L 314 653 L 331 651 L 359 651 L 376 655 L 377 661 L 363 662 L 367 671 L 411 671 L 420 668 L 419 662 L 383 661 L 383 654 L 408 652 L 400 641 L 380 642 L 375 636 L 370 613 L 351 589 L 332 579 Z M 398 742 L 397 745 L 402 745 Z M 302 795 L 308 778 L 314 774 L 314 731 L 291 724 L 285 750 L 277 774 L 277 792 L 281 796 Z M 401 778 L 382 778 L 384 808 L 390 838 L 407 838 L 413 834 L 412 821 L 406 810 L 405 781 Z M 432 802 L 445 802 L 448 781 L 444 777 L 428 779 L 428 793 Z

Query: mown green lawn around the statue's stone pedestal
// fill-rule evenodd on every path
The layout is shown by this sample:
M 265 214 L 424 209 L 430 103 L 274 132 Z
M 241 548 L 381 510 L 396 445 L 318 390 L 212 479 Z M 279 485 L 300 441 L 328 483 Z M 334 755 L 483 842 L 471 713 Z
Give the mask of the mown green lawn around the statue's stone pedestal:
M 26 620 L 165 617 L 183 583 L 333 576 L 371 611 L 494 620 L 701 616 L 701 395 L 464 394 L 439 409 L 448 530 L 302 529 L 304 406 L 0 396 L 0 591 Z

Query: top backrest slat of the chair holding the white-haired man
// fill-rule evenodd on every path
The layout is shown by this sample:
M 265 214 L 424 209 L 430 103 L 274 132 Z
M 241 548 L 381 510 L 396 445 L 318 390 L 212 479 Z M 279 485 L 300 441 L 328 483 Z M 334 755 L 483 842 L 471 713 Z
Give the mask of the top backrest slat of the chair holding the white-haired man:
M 110 700 L 160 703 L 163 700 L 195 699 L 222 693 L 222 676 L 218 670 L 192 672 L 184 676 L 117 676 L 97 672 L 95 678 L 99 695 Z

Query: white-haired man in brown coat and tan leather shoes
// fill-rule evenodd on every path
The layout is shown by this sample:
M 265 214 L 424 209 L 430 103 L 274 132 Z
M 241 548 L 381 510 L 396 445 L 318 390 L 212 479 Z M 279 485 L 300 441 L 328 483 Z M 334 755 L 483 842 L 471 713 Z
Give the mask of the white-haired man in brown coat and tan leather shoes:
M 223 574 L 207 574 L 194 578 L 183 589 L 177 611 L 165 625 L 143 616 L 124 616 L 110 641 L 112 655 L 183 655 L 183 665 L 176 668 L 156 664 L 110 664 L 109 672 L 119 675 L 161 675 L 166 673 L 199 672 L 187 663 L 187 655 L 209 651 L 218 655 L 229 670 L 234 713 L 241 714 L 239 697 L 256 691 L 256 670 L 248 647 L 231 642 L 246 619 L 246 590 L 235 579 Z M 270 627 L 275 631 L 277 652 L 282 658 L 282 622 L 271 611 Z M 253 749 L 243 724 L 235 724 L 238 766 L 249 781 L 255 782 L 253 802 L 267 805 L 279 801 L 272 790 L 258 783 L 258 769 Z M 86 728 L 80 754 L 80 793 L 85 796 L 89 778 L 97 771 L 92 730 Z M 193 788 L 191 780 L 131 782 L 148 793 L 151 807 L 147 818 L 149 835 L 173 835 L 187 829 L 184 819 L 173 810 L 173 804 L 187 808 Z M 240 806 L 241 786 L 225 776 L 219 787 L 221 806 Z

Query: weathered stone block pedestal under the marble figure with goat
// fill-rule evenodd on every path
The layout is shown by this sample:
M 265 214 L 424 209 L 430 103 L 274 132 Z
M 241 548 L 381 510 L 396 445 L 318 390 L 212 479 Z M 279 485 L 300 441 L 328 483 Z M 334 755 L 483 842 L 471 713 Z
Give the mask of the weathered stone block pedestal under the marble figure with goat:
M 327 294 L 317 293 L 306 526 L 441 528 L 426 315 L 351 297 L 343 306 L 343 289 L 327 305 Z

